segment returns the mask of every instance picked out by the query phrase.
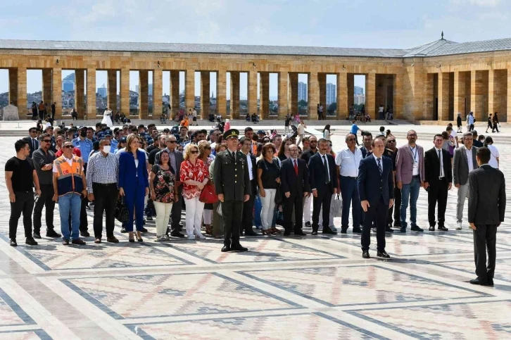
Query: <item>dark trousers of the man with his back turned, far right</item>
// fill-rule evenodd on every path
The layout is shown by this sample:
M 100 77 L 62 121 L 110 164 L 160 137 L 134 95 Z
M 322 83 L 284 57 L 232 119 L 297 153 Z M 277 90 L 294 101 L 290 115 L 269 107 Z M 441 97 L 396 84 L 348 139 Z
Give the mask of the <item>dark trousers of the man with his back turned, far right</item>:
M 493 279 L 495 273 L 495 260 L 497 257 L 497 226 L 476 225 L 474 230 L 474 260 L 476 275 L 479 280 L 486 283 Z M 486 265 L 486 248 L 488 249 L 488 265 Z

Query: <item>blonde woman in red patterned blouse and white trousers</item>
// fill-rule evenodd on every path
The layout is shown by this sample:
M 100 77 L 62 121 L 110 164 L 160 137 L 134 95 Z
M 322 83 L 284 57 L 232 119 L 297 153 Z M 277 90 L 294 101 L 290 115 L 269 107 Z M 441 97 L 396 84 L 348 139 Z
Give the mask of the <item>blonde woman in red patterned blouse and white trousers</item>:
M 201 234 L 204 203 L 199 201 L 198 197 L 201 196 L 204 184 L 209 180 L 209 171 L 204 162 L 198 159 L 196 144 L 188 144 L 184 149 L 183 157 L 180 180 L 183 182 L 183 198 L 187 205 L 185 220 L 187 221 L 188 239 L 206 239 Z

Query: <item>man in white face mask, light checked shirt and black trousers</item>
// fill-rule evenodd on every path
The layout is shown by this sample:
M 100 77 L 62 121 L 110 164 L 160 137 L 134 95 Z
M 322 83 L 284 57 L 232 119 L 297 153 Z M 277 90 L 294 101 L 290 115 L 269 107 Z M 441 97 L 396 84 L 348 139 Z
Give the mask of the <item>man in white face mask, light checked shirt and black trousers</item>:
M 106 241 L 118 243 L 113 236 L 114 210 L 118 196 L 119 160 L 111 151 L 111 141 L 99 141 L 99 153 L 89 158 L 87 171 L 87 196 L 94 203 L 94 243 L 101 243 L 103 234 L 103 211 L 106 213 Z

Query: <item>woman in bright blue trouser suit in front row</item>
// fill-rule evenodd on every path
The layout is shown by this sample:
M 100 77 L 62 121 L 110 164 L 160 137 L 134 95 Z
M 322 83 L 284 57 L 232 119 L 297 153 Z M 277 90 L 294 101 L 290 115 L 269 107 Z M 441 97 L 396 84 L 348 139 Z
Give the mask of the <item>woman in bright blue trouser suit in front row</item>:
M 141 242 L 141 229 L 144 224 L 144 199 L 149 194 L 149 180 L 146 169 L 146 155 L 139 150 L 139 137 L 130 134 L 127 137 L 126 152 L 119 158 L 119 194 L 125 196 L 125 203 L 130 215 L 126 230 L 133 239 L 133 215 L 137 222 L 137 241 Z

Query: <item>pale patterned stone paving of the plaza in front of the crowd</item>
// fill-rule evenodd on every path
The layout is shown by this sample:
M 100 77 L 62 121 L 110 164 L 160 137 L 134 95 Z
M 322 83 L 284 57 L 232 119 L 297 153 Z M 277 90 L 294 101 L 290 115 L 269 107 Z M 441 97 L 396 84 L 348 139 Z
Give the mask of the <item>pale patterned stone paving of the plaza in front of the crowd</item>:
M 1 171 L 14 141 L 0 138 Z M 432 146 L 420 131 L 419 144 Z M 497 146 L 508 175 L 511 152 Z M 20 224 L 11 248 L 0 178 L 0 339 L 511 338 L 511 223 L 498 230 L 495 287 L 470 285 L 472 232 L 454 230 L 455 189 L 449 232 L 387 234 L 390 260 L 375 258 L 373 235 L 374 258 L 364 260 L 351 232 L 253 237 L 242 239 L 247 253 L 221 253 L 215 239 L 156 243 L 151 222 L 144 244 L 129 244 L 117 225 L 119 244 L 81 247 L 25 246 Z M 418 210 L 426 228 L 425 191 Z

